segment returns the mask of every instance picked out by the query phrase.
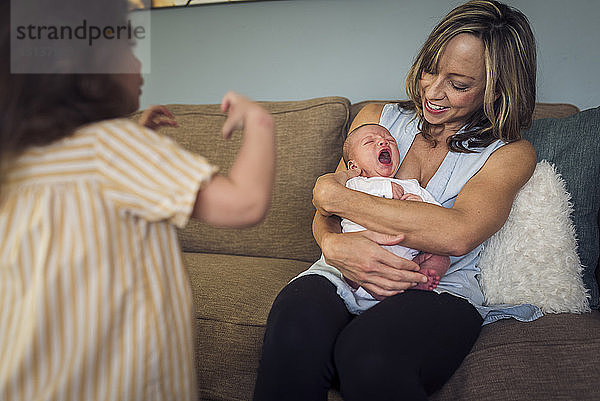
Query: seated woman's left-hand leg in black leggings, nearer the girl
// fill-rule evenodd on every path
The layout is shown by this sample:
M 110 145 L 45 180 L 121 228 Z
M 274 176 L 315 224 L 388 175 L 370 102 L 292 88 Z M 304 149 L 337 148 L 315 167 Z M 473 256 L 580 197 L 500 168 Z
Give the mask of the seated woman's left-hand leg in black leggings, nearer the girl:
M 335 340 L 351 319 L 327 279 L 308 275 L 288 284 L 267 319 L 254 399 L 326 400 Z

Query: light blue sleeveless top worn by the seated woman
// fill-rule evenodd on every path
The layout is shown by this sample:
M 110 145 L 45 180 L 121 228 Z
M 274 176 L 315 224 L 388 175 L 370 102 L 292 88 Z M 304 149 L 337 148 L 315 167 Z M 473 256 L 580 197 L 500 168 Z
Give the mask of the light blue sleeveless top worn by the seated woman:
M 396 104 L 385 105 L 381 113 L 379 123 L 386 127 L 396 139 L 402 160 L 408 153 L 415 136 L 419 133 L 418 119 L 413 119 L 413 117 L 413 112 L 399 109 Z M 504 143 L 498 140 L 486 148 L 473 149 L 477 150 L 477 153 L 448 152 L 425 189 L 443 207 L 451 208 L 462 187 L 481 169 L 488 157 L 503 145 Z M 434 291 L 437 293 L 447 292 L 467 299 L 483 317 L 483 324 L 511 317 L 521 321 L 531 321 L 541 317 L 541 310 L 534 305 L 483 305 L 483 293 L 477 280 L 480 273 L 477 267 L 480 251 L 481 245 L 466 255 L 451 256 L 450 268 Z M 360 314 L 378 302 L 355 297 L 340 271 L 325 263 L 322 255 L 316 263 L 298 277 L 306 274 L 319 274 L 331 281 L 337 287 L 337 293 L 351 313 Z

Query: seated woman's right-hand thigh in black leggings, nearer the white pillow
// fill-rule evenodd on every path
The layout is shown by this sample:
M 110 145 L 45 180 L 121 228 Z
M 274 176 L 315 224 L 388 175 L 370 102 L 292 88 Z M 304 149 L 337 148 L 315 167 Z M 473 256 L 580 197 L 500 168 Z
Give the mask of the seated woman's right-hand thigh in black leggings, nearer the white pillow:
M 344 400 L 426 399 L 469 353 L 481 316 L 450 294 L 409 290 L 352 320 L 335 346 Z

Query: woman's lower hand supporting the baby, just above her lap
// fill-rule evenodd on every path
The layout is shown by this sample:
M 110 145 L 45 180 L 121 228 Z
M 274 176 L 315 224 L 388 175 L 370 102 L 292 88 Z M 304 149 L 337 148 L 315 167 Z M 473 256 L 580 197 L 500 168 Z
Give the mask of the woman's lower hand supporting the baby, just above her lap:
M 376 299 L 382 299 L 427 282 L 426 276 L 417 273 L 419 265 L 381 247 L 396 245 L 402 239 L 403 236 L 369 230 L 330 233 L 323 237 L 323 256 L 344 277 L 358 283 Z

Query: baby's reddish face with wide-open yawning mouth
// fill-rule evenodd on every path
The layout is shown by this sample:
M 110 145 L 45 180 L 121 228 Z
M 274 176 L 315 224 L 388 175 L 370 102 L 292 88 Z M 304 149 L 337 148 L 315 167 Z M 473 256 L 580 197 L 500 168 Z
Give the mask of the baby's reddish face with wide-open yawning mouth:
M 348 168 L 360 168 L 364 177 L 393 177 L 400 165 L 396 140 L 380 125 L 365 125 L 350 138 Z

